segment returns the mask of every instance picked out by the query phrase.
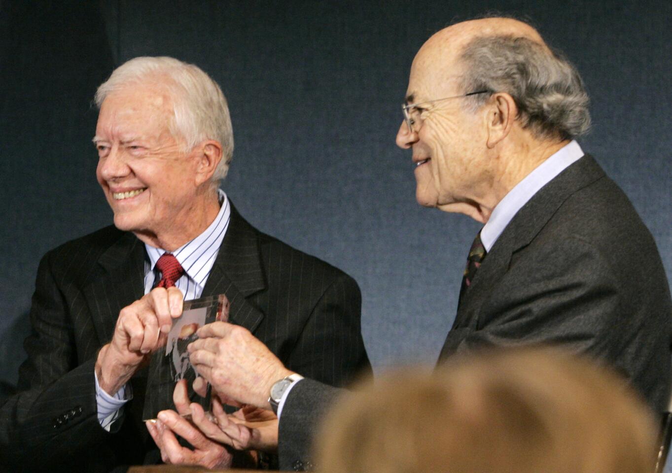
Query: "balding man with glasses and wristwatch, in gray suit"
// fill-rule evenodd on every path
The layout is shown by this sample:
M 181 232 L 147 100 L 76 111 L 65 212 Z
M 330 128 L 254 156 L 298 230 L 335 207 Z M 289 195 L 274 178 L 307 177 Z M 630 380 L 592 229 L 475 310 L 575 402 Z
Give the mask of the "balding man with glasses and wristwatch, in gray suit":
M 439 361 L 484 346 L 560 345 L 612 366 L 663 411 L 669 286 L 632 204 L 575 141 L 589 128 L 587 105 L 572 64 L 514 19 L 450 26 L 415 56 L 396 143 L 412 152 L 417 201 L 484 224 Z M 199 335 L 190 352 L 200 374 L 224 398 L 274 408 L 281 466 L 307 468 L 310 433 L 338 390 L 297 380 L 239 327 L 218 322 Z M 201 414 L 210 441 L 267 447 L 278 435 Z M 164 419 L 182 429 L 173 413 Z M 163 452 L 179 456 L 167 443 Z

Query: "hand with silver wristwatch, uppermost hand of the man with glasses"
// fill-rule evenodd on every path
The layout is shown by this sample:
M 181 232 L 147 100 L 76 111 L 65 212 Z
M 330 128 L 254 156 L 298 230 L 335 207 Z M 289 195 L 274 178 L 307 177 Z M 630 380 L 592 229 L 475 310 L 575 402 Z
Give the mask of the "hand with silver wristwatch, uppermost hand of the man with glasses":
M 204 325 L 187 347 L 196 371 L 222 398 L 269 409 L 273 384 L 293 372 L 247 329 L 226 322 Z

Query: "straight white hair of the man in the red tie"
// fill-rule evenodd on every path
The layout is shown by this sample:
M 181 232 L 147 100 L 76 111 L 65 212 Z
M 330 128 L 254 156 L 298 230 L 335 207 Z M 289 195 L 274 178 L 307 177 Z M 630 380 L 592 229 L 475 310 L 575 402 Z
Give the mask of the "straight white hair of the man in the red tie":
M 233 128 L 226 97 L 219 85 L 194 64 L 175 58 L 137 57 L 115 69 L 95 92 L 98 108 L 110 93 L 129 85 L 160 82 L 173 100 L 171 133 L 181 136 L 191 150 L 203 140 L 217 140 L 222 145 L 222 161 L 212 176 L 224 179 L 233 158 Z

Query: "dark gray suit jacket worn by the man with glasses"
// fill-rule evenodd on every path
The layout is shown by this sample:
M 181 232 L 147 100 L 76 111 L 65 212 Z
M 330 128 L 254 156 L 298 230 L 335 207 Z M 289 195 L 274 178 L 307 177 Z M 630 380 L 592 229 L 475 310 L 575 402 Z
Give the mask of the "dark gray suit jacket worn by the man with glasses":
M 544 186 L 511 220 L 460 301 L 439 361 L 487 345 L 555 344 L 628 378 L 664 411 L 672 302 L 650 232 L 589 156 Z M 338 390 L 303 381 L 280 419 L 281 467 L 307 462 L 310 429 Z M 305 430 L 305 429 L 304 429 Z

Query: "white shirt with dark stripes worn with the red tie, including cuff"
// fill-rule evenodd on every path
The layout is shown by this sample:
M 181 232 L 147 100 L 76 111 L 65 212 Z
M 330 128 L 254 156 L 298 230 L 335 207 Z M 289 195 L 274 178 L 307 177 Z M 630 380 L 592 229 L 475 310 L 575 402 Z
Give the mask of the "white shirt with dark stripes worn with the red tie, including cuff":
M 183 267 L 185 273 L 177 279 L 175 286 L 184 294 L 184 300 L 200 298 L 203 288 L 208 281 L 219 247 L 222 245 L 224 235 L 228 229 L 231 217 L 231 207 L 222 189 L 218 189 L 220 210 L 213 222 L 204 232 L 195 239 L 173 251 L 173 255 Z M 160 272 L 155 265 L 165 250 L 144 244 L 149 261 L 144 263 L 144 294 L 148 294 L 159 281 Z M 102 390 L 95 377 L 95 400 L 98 404 L 98 421 L 107 431 L 121 415 L 121 408 L 132 398 L 130 384 L 122 386 L 120 390 L 110 396 Z

